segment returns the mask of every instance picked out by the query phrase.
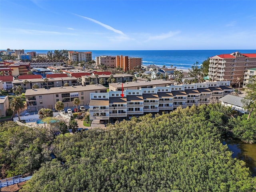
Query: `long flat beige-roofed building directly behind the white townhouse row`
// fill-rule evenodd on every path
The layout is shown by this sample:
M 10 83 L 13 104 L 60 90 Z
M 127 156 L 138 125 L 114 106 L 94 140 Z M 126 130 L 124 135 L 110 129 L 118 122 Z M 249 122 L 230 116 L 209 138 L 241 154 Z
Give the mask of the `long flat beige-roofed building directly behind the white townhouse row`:
M 173 81 L 166 80 L 152 80 L 152 81 L 136 81 L 136 82 L 125 82 L 123 83 L 110 83 L 109 90 L 110 91 L 121 91 L 122 87 L 124 90 L 129 89 L 141 89 L 141 88 L 153 88 L 153 87 L 166 87 L 169 85 L 173 85 Z

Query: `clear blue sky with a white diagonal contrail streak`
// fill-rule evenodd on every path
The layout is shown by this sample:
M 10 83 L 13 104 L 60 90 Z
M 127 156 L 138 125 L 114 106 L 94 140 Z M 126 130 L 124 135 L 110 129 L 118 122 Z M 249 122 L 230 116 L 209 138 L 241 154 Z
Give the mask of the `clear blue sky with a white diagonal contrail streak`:
M 256 49 L 254 0 L 0 0 L 0 49 Z

